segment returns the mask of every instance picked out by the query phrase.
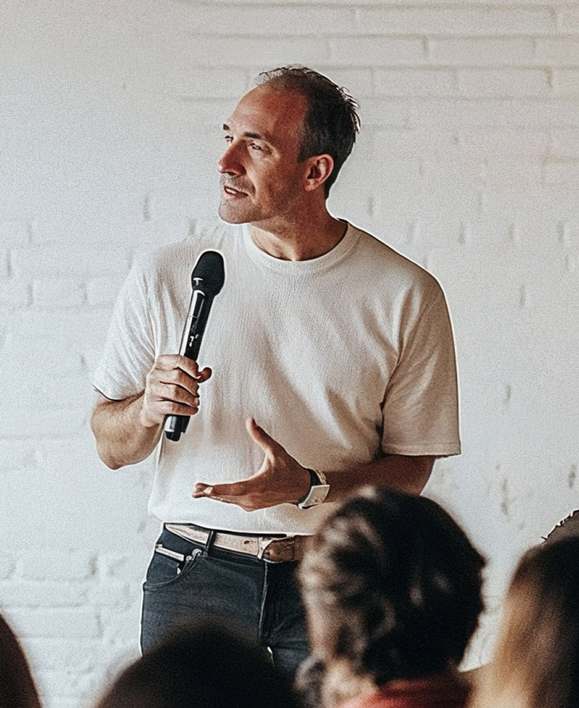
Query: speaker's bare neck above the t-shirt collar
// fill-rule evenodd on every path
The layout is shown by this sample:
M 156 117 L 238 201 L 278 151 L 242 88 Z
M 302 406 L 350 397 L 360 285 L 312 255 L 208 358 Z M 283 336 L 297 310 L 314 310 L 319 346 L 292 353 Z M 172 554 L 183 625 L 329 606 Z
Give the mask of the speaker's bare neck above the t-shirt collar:
M 347 224 L 323 212 L 319 218 L 291 223 L 252 223 L 251 237 L 259 249 L 282 261 L 309 261 L 331 251 L 342 239 Z

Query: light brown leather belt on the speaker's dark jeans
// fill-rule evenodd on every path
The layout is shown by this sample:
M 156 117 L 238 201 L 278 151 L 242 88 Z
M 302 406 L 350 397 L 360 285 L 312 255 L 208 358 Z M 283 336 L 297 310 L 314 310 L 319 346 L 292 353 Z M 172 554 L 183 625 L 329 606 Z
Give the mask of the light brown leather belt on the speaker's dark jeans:
M 188 541 L 199 544 L 207 543 L 211 530 L 194 524 L 165 524 L 165 528 Z M 257 536 L 216 531 L 212 546 L 254 556 L 269 563 L 285 563 L 299 561 L 304 555 L 304 547 L 308 536 Z

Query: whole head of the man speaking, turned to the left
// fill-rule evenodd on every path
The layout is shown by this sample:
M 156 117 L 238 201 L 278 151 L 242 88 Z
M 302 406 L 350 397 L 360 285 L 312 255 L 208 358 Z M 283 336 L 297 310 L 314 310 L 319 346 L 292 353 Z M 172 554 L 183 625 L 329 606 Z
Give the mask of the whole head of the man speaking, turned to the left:
M 312 69 L 260 74 L 224 124 L 222 219 L 267 227 L 312 196 L 323 203 L 352 151 L 356 108 L 345 89 Z

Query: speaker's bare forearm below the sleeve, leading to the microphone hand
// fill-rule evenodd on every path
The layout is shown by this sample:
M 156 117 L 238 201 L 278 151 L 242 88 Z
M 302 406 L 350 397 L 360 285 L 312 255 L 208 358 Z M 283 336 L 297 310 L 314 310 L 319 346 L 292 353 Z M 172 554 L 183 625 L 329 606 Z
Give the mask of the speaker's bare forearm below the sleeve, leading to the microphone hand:
M 98 457 L 110 469 L 141 462 L 159 442 L 162 424 L 145 426 L 142 422 L 143 393 L 122 401 L 101 401 L 96 406 L 91 428 Z

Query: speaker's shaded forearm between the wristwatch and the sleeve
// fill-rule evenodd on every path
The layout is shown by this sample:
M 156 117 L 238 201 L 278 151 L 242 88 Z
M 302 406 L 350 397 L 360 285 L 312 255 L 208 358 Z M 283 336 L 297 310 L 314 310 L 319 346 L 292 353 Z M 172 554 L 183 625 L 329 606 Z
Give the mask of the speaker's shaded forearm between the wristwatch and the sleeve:
M 416 457 L 386 455 L 345 472 L 326 472 L 326 479 L 330 485 L 327 501 L 338 501 L 365 484 L 389 486 L 408 493 L 420 494 L 430 477 L 434 462 L 435 457 L 427 455 Z

